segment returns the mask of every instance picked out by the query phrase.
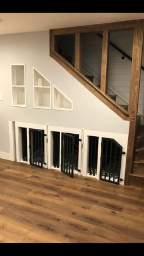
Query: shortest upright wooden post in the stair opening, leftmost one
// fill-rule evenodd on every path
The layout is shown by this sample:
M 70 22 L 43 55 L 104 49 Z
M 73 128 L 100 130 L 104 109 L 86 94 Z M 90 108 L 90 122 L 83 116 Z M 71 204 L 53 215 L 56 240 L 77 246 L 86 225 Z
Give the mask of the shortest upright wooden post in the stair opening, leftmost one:
M 74 68 L 77 71 L 81 71 L 81 34 L 79 32 L 75 34 Z

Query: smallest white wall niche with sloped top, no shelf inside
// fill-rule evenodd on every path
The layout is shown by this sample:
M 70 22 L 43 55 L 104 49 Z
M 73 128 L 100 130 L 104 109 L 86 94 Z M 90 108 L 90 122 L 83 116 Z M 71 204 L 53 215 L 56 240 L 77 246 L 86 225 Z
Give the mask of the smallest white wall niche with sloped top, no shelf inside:
M 52 109 L 73 111 L 73 101 L 54 85 L 52 86 Z

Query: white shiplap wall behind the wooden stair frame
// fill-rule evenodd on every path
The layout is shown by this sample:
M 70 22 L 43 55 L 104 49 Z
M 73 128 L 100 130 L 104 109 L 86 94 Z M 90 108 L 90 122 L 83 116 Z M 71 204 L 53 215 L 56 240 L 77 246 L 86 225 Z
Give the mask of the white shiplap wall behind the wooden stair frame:
M 129 56 L 132 56 L 132 43 L 134 31 L 110 32 L 110 42 L 117 45 Z M 82 65 L 88 68 L 93 75 L 101 77 L 101 48 L 102 39 L 96 34 L 82 35 Z M 118 93 L 126 102 L 129 102 L 129 89 L 131 80 L 131 60 L 121 59 L 123 55 L 117 49 L 109 46 L 107 86 Z M 144 51 L 142 65 L 144 66 Z M 109 94 L 110 91 L 108 91 Z M 117 102 L 120 100 L 117 98 Z M 121 103 L 120 104 L 124 104 Z M 144 115 L 144 71 L 141 71 L 139 112 Z M 142 124 L 144 119 L 142 118 Z

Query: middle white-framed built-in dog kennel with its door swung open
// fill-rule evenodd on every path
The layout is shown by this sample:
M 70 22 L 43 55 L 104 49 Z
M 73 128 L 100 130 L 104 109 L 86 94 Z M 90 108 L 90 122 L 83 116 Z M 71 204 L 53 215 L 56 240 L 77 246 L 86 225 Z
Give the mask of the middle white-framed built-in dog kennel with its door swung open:
M 82 130 L 57 130 L 49 127 L 49 169 L 59 169 L 73 178 L 81 172 Z

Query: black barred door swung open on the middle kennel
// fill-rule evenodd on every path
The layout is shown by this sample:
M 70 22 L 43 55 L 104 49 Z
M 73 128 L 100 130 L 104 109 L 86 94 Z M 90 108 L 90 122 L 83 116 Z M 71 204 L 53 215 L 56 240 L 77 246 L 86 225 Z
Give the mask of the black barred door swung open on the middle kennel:
M 62 133 L 61 170 L 71 178 L 74 169 L 74 139 L 73 135 Z

